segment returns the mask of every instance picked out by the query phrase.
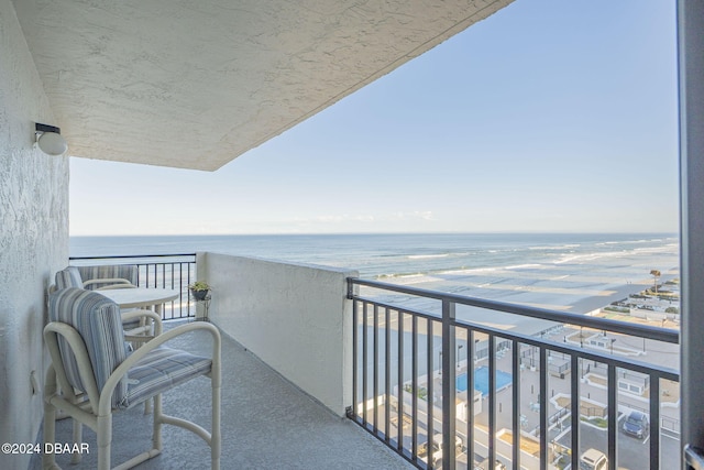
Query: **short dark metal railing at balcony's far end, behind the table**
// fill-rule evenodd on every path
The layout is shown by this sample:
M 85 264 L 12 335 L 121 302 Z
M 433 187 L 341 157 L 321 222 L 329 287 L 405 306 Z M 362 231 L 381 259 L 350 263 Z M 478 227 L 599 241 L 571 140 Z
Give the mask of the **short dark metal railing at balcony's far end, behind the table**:
M 139 287 L 172 288 L 180 295 L 164 305 L 162 318 L 165 320 L 196 316 L 196 303 L 188 285 L 196 281 L 196 253 L 72 256 L 73 265 L 136 264 Z

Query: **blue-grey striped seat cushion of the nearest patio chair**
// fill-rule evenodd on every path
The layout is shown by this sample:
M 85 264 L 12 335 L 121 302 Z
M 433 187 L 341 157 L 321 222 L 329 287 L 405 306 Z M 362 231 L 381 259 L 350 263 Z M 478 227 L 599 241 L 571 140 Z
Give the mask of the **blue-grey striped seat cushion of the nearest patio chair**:
M 118 406 L 130 408 L 143 403 L 193 378 L 209 373 L 211 365 L 209 358 L 158 347 L 130 369 L 128 392 Z

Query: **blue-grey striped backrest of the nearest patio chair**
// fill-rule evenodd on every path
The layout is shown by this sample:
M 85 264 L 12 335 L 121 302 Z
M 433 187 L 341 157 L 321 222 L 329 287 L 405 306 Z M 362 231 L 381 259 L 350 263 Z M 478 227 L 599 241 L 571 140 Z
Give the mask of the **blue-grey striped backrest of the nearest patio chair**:
M 100 392 L 110 374 L 128 357 L 120 307 L 96 292 L 70 287 L 50 296 L 48 317 L 50 321 L 72 326 L 81 336 Z M 68 341 L 59 336 L 58 346 L 68 382 L 75 389 L 85 392 L 86 385 L 78 372 L 78 363 Z M 127 378 L 116 387 L 112 406 L 116 407 L 125 394 Z

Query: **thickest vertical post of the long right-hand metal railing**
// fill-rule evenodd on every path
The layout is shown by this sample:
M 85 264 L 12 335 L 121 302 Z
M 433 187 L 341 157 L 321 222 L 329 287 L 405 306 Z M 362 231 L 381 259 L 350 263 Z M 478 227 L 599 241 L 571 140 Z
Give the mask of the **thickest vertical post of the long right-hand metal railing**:
M 454 436 L 457 434 L 457 387 L 454 370 L 455 337 L 454 309 L 450 300 L 442 300 L 442 468 L 453 469 Z M 430 456 L 429 456 L 430 457 Z

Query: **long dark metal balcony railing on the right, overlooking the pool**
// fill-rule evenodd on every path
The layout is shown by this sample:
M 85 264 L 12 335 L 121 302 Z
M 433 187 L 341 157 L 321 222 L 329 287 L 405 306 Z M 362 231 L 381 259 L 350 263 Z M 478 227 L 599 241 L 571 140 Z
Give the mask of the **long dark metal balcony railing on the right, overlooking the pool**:
M 404 307 L 398 294 L 436 311 Z M 676 331 L 360 278 L 348 280 L 348 297 L 349 417 L 416 467 L 584 469 L 590 457 L 600 469 L 679 467 L 679 442 L 663 450 L 662 439 L 679 433 L 676 403 L 663 406 L 678 371 L 614 350 L 624 336 L 644 338 L 644 352 L 645 338 L 676 345 Z M 486 323 L 458 319 L 459 306 L 486 309 Z M 496 311 L 552 324 L 538 336 L 487 326 Z M 624 423 L 638 411 L 650 425 L 628 427 L 631 437 Z

